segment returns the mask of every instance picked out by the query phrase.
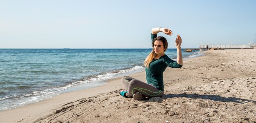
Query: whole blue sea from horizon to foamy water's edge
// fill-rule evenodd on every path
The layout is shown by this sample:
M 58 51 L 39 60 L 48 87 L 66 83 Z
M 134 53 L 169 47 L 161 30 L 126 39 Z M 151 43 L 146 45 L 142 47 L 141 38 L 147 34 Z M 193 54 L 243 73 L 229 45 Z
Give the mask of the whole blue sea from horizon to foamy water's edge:
M 152 49 L 0 49 L 0 111 L 145 70 Z M 183 58 L 202 55 L 183 52 Z M 165 54 L 173 60 L 176 49 Z M 121 80 L 120 80 L 121 83 Z

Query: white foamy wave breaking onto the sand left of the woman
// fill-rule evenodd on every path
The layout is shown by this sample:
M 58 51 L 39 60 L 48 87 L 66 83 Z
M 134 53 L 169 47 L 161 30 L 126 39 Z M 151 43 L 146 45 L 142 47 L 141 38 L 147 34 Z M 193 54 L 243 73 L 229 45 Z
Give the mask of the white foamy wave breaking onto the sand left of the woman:
M 38 102 L 38 101 L 41 101 L 41 100 L 47 98 L 46 96 L 48 96 L 48 98 L 52 97 L 53 96 L 52 94 L 61 92 L 65 89 L 68 89 L 69 87 L 74 87 L 75 85 L 93 83 L 96 81 L 104 81 L 106 79 L 113 78 L 114 76 L 118 76 L 119 74 L 134 72 L 138 69 L 143 69 L 143 67 L 142 66 L 134 66 L 134 67 L 127 68 L 127 69 L 113 70 L 110 72 L 87 76 L 86 78 L 82 78 L 79 81 L 67 82 L 67 85 L 65 85 L 65 86 L 52 87 L 52 88 L 44 89 L 41 91 L 40 90 L 33 91 L 30 94 L 23 94 L 23 95 L 22 94 L 14 94 L 12 96 L 5 96 L 3 98 L 0 98 L 0 101 L 9 102 L 9 103 L 13 103 L 13 104 L 6 105 L 5 107 L 0 108 L 0 110 L 8 110 L 13 107 L 20 107 L 20 106 L 27 105 L 30 103 L 35 103 L 35 102 Z M 31 87 L 30 86 L 19 86 L 18 88 L 29 89 Z M 15 103 L 14 100 L 20 100 L 20 101 Z

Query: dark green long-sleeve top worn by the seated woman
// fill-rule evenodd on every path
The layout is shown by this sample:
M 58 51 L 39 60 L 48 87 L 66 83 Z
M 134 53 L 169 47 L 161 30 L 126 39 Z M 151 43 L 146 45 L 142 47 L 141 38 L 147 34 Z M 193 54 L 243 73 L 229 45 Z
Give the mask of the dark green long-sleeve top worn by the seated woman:
M 151 39 L 157 37 L 157 34 L 151 34 Z M 161 56 L 158 59 L 154 59 L 149 67 L 146 67 L 146 79 L 148 84 L 154 85 L 157 89 L 164 91 L 164 79 L 163 72 L 166 67 L 180 68 L 182 65 L 179 65 L 176 61 L 171 60 L 167 55 Z

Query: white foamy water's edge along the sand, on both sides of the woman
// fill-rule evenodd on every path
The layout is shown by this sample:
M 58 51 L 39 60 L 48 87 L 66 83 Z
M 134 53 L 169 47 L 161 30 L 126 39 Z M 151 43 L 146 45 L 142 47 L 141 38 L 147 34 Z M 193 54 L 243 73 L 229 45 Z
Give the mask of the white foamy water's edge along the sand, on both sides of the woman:
M 195 58 L 195 57 L 199 57 L 201 55 L 203 55 L 203 53 L 201 53 L 200 51 L 195 51 L 195 53 L 194 52 L 190 53 L 190 55 L 186 56 L 184 59 Z M 176 59 L 173 59 L 173 60 L 176 60 Z M 131 70 L 133 70 L 133 71 L 131 71 Z M 119 76 L 134 74 L 134 73 L 138 73 L 138 72 L 143 72 L 143 71 L 145 71 L 145 69 L 142 68 L 142 66 L 133 66 L 133 67 L 125 68 L 125 69 L 117 69 L 117 70 L 114 70 L 114 71 L 112 71 L 110 73 L 107 72 L 107 74 L 103 73 L 103 74 L 93 75 L 94 77 L 88 78 L 89 81 L 90 80 L 92 81 L 90 83 L 80 83 L 78 85 L 76 85 L 76 82 L 75 82 L 75 84 L 70 83 L 70 84 L 64 85 L 62 87 L 57 87 L 57 89 L 58 88 L 62 89 L 60 91 L 55 90 L 56 92 L 47 92 L 44 95 L 33 95 L 31 97 L 23 97 L 20 100 L 13 100 L 13 102 L 12 102 L 12 100 L 10 100 L 10 102 L 12 102 L 11 104 L 13 104 L 13 105 L 5 104 L 4 102 L 7 102 L 7 101 L 3 100 L 2 104 L 4 104 L 5 106 L 2 105 L 0 112 L 6 111 L 6 110 L 15 109 L 15 108 L 18 108 L 18 107 L 23 107 L 25 105 L 29 105 L 29 104 L 33 104 L 33 103 L 37 103 L 37 102 L 43 101 L 45 99 L 57 96 L 59 94 L 79 91 L 79 90 L 93 88 L 93 87 L 99 87 L 99 86 L 105 85 L 106 82 L 109 79 L 117 78 Z M 101 75 L 103 76 L 103 78 L 98 77 L 98 76 L 101 76 Z M 106 77 L 108 77 L 108 78 L 106 78 Z M 77 81 L 81 81 L 82 79 L 84 79 L 84 78 L 80 78 Z M 96 80 L 92 80 L 92 79 L 96 79 Z M 88 80 L 86 80 L 86 81 L 88 81 Z M 17 102 L 17 101 L 19 101 L 19 102 Z

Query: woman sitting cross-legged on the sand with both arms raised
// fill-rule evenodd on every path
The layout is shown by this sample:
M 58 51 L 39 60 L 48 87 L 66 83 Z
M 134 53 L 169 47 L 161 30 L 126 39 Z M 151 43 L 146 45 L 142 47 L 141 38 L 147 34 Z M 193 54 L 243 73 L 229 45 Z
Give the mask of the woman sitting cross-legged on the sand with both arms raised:
M 151 30 L 151 40 L 153 50 L 144 61 L 146 67 L 147 83 L 139 81 L 130 76 L 123 76 L 122 82 L 124 87 L 128 90 L 122 89 L 119 91 L 121 96 L 126 98 L 133 97 L 135 100 L 145 99 L 145 97 L 152 98 L 153 96 L 164 95 L 164 80 L 163 72 L 166 67 L 180 68 L 182 67 L 182 53 L 180 35 L 177 35 L 175 45 L 177 47 L 177 62 L 171 60 L 164 52 L 168 47 L 166 38 L 162 36 L 157 37 L 157 33 L 163 32 L 166 35 L 172 35 L 172 31 L 167 28 L 153 28 Z M 139 93 L 137 93 L 139 92 Z

